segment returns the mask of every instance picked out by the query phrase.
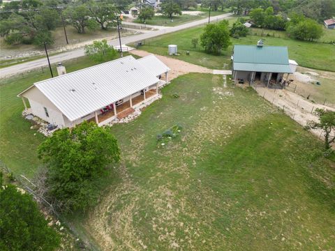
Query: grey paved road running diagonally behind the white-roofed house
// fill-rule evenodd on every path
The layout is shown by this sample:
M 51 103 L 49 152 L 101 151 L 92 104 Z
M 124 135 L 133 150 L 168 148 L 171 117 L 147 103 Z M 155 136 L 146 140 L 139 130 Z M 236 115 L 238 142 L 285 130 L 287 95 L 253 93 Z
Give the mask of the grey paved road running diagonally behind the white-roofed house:
M 223 15 L 218 15 L 218 16 L 214 16 L 211 17 L 211 22 L 216 22 L 218 20 L 223 20 L 227 17 L 229 17 L 230 15 L 232 15 L 232 13 L 227 13 L 227 14 L 223 14 Z M 133 35 L 133 36 L 128 36 L 126 38 L 122 38 L 121 42 L 123 45 L 126 45 L 128 43 L 133 43 L 139 40 L 144 40 L 144 39 L 148 39 L 148 38 L 153 38 L 155 36 L 160 36 L 166 33 L 171 33 L 174 31 L 180 31 L 181 29 L 187 29 L 193 26 L 198 26 L 200 24 L 206 24 L 208 22 L 208 19 L 204 19 L 204 20 L 198 20 L 198 21 L 194 21 L 194 22 L 188 22 L 186 24 L 181 24 L 178 26 L 174 26 L 174 27 L 166 27 L 165 29 L 160 29 L 158 31 L 151 31 L 149 33 L 142 33 L 139 35 Z M 177 38 L 176 38 L 176 43 L 177 43 Z M 116 46 L 119 45 L 119 40 L 115 39 L 115 40 L 111 40 L 109 42 L 110 45 Z M 54 56 L 50 56 L 50 63 L 57 63 L 57 62 L 62 62 L 62 61 L 66 61 L 69 59 L 75 59 L 77 57 L 80 56 L 84 56 L 84 49 L 78 49 L 78 50 L 71 50 L 69 52 L 63 52 L 61 54 L 57 54 Z M 17 73 L 23 73 L 25 71 L 28 70 L 33 70 L 35 68 L 41 67 L 41 66 L 47 66 L 47 59 L 43 58 L 43 59 L 36 59 L 34 61 L 30 61 L 27 63 L 20 63 L 17 64 L 15 66 L 9 66 L 6 68 L 1 68 L 0 69 L 0 78 L 3 77 L 9 77 L 11 75 L 15 75 Z

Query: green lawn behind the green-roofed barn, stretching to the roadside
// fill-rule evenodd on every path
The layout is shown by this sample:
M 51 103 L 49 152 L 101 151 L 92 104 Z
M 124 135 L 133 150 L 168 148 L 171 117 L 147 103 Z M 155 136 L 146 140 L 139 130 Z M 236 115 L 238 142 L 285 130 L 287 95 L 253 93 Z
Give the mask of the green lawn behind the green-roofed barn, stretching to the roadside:
M 192 38 L 199 38 L 203 32 L 204 26 L 198 26 L 192 29 L 177 31 L 145 41 L 145 45 L 140 47 L 141 50 L 147 50 L 151 53 L 168 56 L 168 45 L 178 45 L 180 56 L 178 59 L 195 63 L 207 68 L 230 69 L 230 56 L 232 54 L 232 46 L 223 52 L 222 56 L 213 56 L 204 53 L 202 48 L 198 46 L 193 48 L 191 44 Z M 177 39 L 176 39 L 177 38 Z M 246 36 L 245 38 L 232 38 L 232 45 L 256 45 L 257 41 L 262 38 L 265 45 L 288 46 L 290 59 L 294 59 L 300 66 L 315 68 L 319 70 L 335 71 L 335 46 L 325 43 L 312 43 L 290 38 L 274 38 L 271 36 Z M 190 51 L 190 56 L 186 55 L 186 51 Z

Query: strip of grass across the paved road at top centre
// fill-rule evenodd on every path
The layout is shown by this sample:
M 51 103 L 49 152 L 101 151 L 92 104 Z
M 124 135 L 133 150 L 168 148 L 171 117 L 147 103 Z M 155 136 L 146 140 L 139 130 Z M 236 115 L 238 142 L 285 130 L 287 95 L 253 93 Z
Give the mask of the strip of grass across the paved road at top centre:
M 207 10 L 202 10 L 202 14 L 200 15 L 174 15 L 172 20 L 173 22 L 171 22 L 170 18 L 165 16 L 165 15 L 156 15 L 154 17 L 152 17 L 151 20 L 146 20 L 147 24 L 151 24 L 151 25 L 158 25 L 158 26 L 177 26 L 179 24 L 184 24 L 186 22 L 192 22 L 195 20 L 202 20 L 206 17 L 208 17 L 209 13 Z M 222 15 L 226 12 L 223 11 L 211 11 L 211 17 L 215 17 L 216 15 Z M 142 24 L 143 22 L 141 22 L 140 20 L 133 20 L 133 22 L 135 23 L 139 23 Z

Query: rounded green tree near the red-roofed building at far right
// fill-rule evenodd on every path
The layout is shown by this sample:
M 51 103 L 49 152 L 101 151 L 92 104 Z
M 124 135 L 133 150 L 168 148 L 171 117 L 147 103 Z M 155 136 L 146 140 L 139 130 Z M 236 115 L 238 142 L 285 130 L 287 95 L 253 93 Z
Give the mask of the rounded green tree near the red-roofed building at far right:
M 299 40 L 313 41 L 322 36 L 322 26 L 315 20 L 306 18 L 297 24 L 291 23 L 287 29 L 290 36 Z

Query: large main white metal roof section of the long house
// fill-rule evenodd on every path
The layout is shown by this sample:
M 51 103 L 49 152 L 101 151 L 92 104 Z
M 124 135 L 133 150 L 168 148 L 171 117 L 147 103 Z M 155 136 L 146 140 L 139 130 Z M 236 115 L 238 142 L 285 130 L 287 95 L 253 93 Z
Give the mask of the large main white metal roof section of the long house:
M 34 86 L 70 121 L 75 121 L 158 81 L 143 63 L 126 56 L 46 79 Z

